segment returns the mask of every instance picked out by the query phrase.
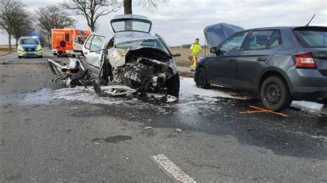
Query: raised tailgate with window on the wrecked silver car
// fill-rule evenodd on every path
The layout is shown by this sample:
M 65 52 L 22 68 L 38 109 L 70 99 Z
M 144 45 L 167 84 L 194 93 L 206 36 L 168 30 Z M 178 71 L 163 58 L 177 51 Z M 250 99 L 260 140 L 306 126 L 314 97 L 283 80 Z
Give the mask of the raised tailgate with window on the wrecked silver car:
M 152 22 L 141 15 L 121 14 L 111 19 L 109 25 L 113 34 L 117 32 L 143 32 L 149 34 Z

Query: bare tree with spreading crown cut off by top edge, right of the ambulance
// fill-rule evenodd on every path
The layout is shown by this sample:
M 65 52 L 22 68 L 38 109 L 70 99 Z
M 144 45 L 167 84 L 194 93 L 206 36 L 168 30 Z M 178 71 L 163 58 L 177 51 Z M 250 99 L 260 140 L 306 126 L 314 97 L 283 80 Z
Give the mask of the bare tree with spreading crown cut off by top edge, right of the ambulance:
M 88 27 L 94 32 L 97 30 L 99 17 L 116 12 L 121 8 L 121 3 L 117 0 L 66 0 L 62 6 L 66 10 L 71 10 L 71 15 L 86 17 Z

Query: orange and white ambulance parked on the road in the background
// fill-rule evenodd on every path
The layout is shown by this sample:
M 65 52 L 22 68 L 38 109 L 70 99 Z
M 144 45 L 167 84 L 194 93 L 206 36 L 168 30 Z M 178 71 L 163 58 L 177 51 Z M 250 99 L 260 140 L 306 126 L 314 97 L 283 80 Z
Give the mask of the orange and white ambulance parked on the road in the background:
M 88 30 L 52 29 L 52 54 L 57 56 L 59 56 L 59 52 L 63 52 L 63 54 L 70 56 L 83 54 L 83 44 L 90 34 L 91 32 Z M 66 47 L 64 49 L 59 45 L 61 40 L 66 42 Z

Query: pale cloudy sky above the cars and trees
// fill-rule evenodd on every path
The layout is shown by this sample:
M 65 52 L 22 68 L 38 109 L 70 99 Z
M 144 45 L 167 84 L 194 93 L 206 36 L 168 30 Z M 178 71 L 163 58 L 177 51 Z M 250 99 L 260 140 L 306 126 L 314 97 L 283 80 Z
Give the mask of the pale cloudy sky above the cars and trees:
M 23 0 L 28 10 L 39 6 L 58 3 L 60 0 Z M 195 38 L 204 44 L 203 30 L 215 23 L 231 23 L 242 28 L 270 26 L 306 25 L 316 14 L 310 25 L 327 26 L 327 0 L 304 1 L 246 1 L 246 0 L 170 0 L 160 4 L 155 13 L 146 12 L 133 0 L 133 14 L 141 14 L 152 20 L 152 34 L 158 33 L 169 45 L 192 43 Z M 99 19 L 99 32 L 108 33 L 108 21 L 123 10 Z M 77 28 L 88 29 L 83 17 L 78 19 Z M 6 34 L 0 34 L 0 44 L 6 44 Z

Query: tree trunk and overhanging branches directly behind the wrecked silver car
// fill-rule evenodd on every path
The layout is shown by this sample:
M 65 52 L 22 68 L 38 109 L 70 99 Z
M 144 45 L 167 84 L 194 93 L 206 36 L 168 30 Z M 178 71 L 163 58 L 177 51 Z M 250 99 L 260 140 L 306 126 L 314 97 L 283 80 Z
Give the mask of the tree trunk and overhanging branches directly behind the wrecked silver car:
M 148 12 L 156 12 L 159 3 L 168 3 L 169 0 L 139 0 L 139 6 Z M 124 14 L 132 14 L 132 0 L 123 0 Z

